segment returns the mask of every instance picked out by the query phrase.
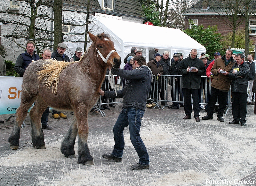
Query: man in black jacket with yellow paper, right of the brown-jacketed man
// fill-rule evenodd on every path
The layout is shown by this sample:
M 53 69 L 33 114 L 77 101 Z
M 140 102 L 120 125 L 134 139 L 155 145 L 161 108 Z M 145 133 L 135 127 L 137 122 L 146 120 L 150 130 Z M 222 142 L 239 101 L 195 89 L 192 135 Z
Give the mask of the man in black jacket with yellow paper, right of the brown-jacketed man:
M 250 66 L 244 63 L 244 55 L 236 54 L 236 63 L 228 74 L 228 78 L 232 79 L 232 115 L 234 120 L 230 124 L 239 124 L 245 126 L 246 102 L 247 102 L 247 86 Z

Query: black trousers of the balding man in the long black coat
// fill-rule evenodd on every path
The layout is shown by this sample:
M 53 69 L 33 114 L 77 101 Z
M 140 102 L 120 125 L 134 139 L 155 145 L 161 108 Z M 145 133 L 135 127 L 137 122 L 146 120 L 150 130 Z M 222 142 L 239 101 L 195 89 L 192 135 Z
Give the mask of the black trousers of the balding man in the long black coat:
M 191 116 L 192 113 L 192 103 L 191 103 L 191 95 L 193 98 L 193 111 L 194 111 L 194 117 L 199 117 L 199 89 L 188 89 L 183 88 L 183 94 L 184 94 L 184 110 L 185 114 Z

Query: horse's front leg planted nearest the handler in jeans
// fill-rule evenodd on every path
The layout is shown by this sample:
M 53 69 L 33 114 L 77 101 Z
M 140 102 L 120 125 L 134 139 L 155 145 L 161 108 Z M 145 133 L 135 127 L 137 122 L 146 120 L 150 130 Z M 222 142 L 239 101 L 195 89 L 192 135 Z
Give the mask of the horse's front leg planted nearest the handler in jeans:
M 87 145 L 87 138 L 89 134 L 89 126 L 87 122 L 87 112 L 84 115 L 79 115 L 78 123 L 78 160 L 77 163 L 84 165 L 93 165 L 93 158 Z

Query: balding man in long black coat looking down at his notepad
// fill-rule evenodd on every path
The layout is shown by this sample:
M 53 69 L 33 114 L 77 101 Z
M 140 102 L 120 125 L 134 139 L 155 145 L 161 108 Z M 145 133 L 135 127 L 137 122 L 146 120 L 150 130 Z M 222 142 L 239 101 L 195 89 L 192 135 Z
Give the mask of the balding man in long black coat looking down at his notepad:
M 193 67 L 193 68 L 192 68 Z M 184 110 L 186 116 L 183 119 L 191 119 L 193 98 L 193 111 L 196 122 L 199 119 L 199 88 L 201 76 L 206 73 L 204 63 L 197 58 L 197 50 L 193 48 L 187 58 L 183 59 L 179 66 L 179 73 L 182 75 L 182 88 L 184 95 Z

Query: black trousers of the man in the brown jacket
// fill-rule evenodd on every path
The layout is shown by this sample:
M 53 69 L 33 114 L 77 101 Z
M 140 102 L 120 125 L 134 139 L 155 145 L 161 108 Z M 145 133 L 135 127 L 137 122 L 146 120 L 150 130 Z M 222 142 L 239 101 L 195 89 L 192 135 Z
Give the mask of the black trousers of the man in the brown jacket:
M 226 102 L 227 102 L 227 95 L 228 92 L 222 92 L 217 88 L 213 88 L 211 87 L 211 95 L 209 98 L 209 102 L 208 102 L 208 109 L 207 109 L 207 115 L 212 116 L 213 115 L 213 110 L 214 110 L 214 106 L 218 100 L 218 96 L 219 96 L 219 101 L 218 101 L 218 117 L 222 117 L 224 110 L 226 108 Z

